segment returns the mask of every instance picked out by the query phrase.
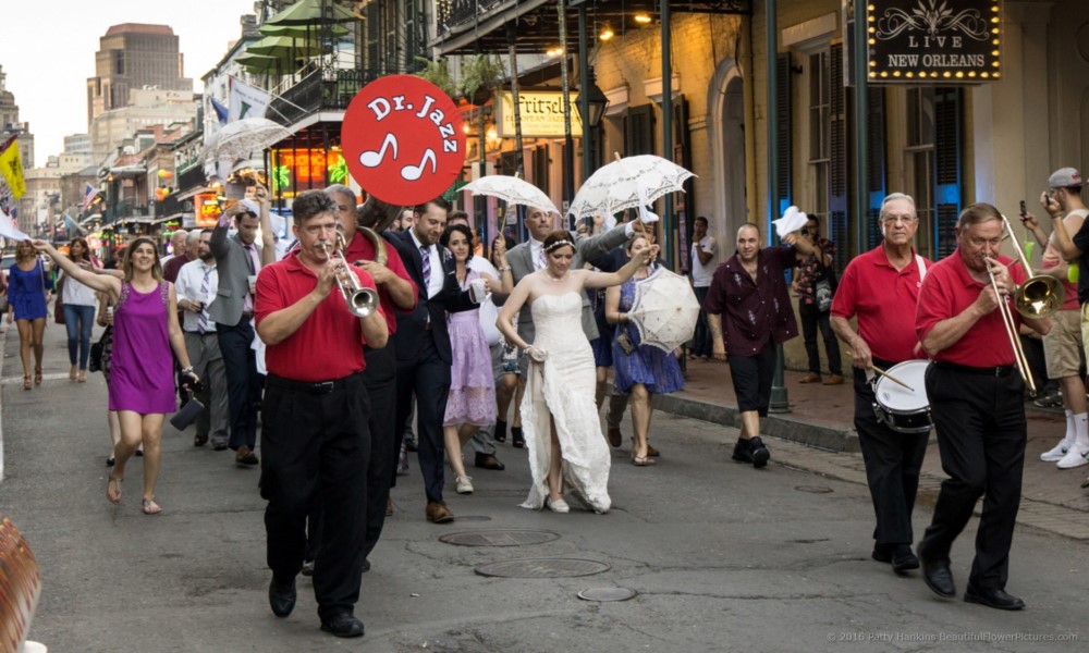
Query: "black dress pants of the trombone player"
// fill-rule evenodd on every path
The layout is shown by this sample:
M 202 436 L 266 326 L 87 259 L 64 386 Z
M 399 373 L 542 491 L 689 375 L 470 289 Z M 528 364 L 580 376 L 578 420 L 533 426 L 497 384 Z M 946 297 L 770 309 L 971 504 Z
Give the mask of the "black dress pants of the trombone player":
M 987 375 L 939 364 L 927 369 L 930 414 L 942 469 L 950 478 L 942 481 L 933 521 L 919 542 L 919 557 L 947 559 L 953 541 L 983 495 L 968 577 L 980 589 L 1005 589 L 1010 575 L 1025 466 L 1024 392 L 1013 368 Z

